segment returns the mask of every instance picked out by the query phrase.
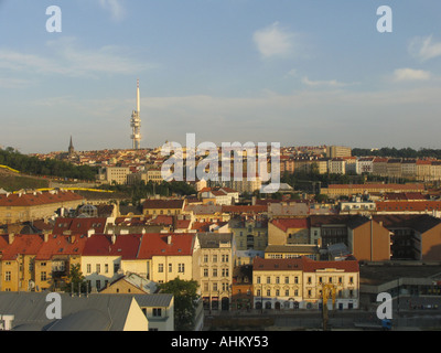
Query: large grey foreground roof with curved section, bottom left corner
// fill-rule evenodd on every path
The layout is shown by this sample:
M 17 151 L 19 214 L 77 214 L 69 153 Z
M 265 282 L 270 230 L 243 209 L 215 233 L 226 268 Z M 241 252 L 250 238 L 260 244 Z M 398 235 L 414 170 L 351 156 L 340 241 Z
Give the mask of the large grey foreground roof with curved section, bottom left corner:
M 0 292 L 0 312 L 13 314 L 19 331 L 122 331 L 133 297 L 60 293 L 62 319 L 47 319 L 49 292 Z

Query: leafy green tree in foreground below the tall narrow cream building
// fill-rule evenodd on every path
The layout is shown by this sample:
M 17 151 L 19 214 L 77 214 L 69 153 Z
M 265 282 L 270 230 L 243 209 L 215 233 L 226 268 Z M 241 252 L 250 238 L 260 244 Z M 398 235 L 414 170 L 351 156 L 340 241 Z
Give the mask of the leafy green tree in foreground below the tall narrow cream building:
M 183 280 L 179 277 L 161 284 L 161 293 L 174 296 L 174 329 L 176 331 L 192 331 L 195 323 L 197 295 L 197 281 Z

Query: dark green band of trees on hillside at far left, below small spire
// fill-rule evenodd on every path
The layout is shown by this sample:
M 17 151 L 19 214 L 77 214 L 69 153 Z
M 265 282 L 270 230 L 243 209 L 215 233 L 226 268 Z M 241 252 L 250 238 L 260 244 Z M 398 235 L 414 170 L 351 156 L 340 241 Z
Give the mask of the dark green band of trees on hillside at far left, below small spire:
M 95 180 L 97 169 L 89 165 L 74 165 L 55 159 L 44 161 L 36 157 L 20 153 L 12 147 L 0 149 L 0 164 L 17 169 L 32 175 L 47 175 L 78 180 Z

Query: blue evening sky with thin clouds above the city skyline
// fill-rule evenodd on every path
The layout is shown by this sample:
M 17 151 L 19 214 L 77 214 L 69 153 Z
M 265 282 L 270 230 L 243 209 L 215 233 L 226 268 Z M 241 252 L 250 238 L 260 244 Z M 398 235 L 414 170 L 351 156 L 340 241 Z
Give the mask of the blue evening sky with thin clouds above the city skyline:
M 143 148 L 441 148 L 439 0 L 0 0 L 0 35 L 22 153 L 131 148 L 138 78 Z

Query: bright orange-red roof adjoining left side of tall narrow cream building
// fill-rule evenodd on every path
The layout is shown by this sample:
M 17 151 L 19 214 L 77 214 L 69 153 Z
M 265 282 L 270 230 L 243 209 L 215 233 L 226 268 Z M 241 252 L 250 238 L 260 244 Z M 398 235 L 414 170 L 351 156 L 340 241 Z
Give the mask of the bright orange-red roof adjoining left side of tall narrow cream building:
M 170 238 L 169 238 L 170 237 Z M 168 244 L 168 240 L 171 240 Z M 195 235 L 187 233 L 147 233 L 142 236 L 138 253 L 139 259 L 152 256 L 191 256 Z

